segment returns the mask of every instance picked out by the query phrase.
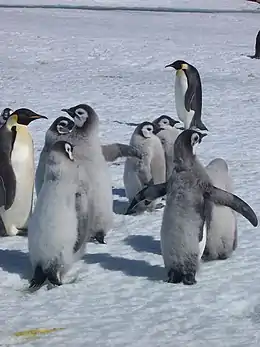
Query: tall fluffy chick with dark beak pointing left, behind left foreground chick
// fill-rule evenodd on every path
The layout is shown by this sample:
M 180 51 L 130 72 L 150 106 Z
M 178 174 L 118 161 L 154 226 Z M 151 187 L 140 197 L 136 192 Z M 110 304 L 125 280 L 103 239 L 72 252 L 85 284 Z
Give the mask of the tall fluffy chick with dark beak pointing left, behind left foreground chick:
M 67 137 L 74 145 L 79 170 L 79 232 L 87 230 L 88 240 L 95 237 L 99 243 L 105 243 L 104 238 L 113 226 L 113 195 L 109 167 L 99 138 L 99 117 L 87 104 L 62 111 L 68 113 L 75 123 Z

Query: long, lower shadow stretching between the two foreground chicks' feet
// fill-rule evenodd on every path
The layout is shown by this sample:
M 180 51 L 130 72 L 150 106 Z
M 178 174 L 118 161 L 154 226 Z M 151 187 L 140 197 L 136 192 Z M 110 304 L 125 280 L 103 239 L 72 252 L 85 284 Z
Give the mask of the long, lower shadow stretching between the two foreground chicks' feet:
M 115 257 L 109 253 L 86 254 L 87 264 L 99 264 L 103 269 L 120 271 L 126 276 L 145 277 L 149 281 L 164 281 L 165 270 L 162 266 L 151 265 L 145 260 Z

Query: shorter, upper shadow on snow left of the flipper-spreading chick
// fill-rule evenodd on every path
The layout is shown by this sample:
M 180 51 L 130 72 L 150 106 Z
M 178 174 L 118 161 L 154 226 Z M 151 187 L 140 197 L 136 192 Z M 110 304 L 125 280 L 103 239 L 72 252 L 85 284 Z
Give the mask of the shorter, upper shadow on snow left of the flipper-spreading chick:
M 140 253 L 146 252 L 161 255 L 160 241 L 149 235 L 130 235 L 124 239 L 124 243 Z

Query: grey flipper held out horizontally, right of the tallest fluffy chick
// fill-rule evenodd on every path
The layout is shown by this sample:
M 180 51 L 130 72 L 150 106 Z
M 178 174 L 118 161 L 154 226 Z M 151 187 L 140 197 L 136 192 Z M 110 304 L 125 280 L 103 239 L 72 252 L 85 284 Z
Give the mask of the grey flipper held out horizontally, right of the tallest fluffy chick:
M 142 154 L 140 151 L 129 145 L 125 145 L 123 143 L 112 143 L 110 145 L 102 146 L 103 156 L 106 161 L 113 162 L 117 158 L 121 157 L 137 157 L 142 159 Z

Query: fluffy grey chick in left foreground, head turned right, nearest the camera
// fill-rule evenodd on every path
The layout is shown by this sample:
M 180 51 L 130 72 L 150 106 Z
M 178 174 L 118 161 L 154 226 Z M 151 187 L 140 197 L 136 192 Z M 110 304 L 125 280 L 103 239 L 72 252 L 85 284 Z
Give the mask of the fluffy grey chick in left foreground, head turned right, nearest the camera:
M 81 257 L 84 238 L 78 234 L 76 212 L 77 163 L 73 145 L 55 142 L 47 158 L 45 179 L 28 224 L 28 248 L 33 270 L 30 289 L 46 280 L 61 285 L 73 262 Z

